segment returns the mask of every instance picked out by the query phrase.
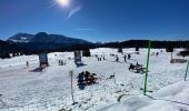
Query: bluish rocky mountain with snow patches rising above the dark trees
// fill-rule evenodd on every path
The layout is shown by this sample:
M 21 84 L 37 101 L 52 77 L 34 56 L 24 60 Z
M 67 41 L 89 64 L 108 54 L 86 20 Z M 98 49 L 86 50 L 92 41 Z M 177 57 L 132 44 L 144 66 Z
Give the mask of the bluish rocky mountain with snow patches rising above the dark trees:
M 39 32 L 37 34 L 18 33 L 10 37 L 7 41 L 14 43 L 59 43 L 59 44 L 84 44 L 91 43 L 81 39 L 73 39 L 60 34 L 48 34 L 46 32 Z

